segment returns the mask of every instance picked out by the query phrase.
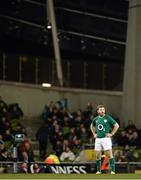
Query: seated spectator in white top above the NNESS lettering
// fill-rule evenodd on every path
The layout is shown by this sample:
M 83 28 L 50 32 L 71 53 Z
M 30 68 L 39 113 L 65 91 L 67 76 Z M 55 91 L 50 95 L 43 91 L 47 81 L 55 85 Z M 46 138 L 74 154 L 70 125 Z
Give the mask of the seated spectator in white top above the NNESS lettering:
M 61 161 L 67 161 L 67 160 L 74 161 L 74 159 L 75 159 L 75 155 L 69 147 L 67 147 L 66 150 L 63 151 L 60 156 Z

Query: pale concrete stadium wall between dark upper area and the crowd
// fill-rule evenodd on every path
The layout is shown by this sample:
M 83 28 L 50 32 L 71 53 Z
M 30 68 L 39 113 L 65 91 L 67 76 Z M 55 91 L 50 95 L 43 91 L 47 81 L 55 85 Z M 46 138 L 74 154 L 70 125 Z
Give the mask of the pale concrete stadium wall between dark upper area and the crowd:
M 103 103 L 113 116 L 120 118 L 121 115 L 122 92 L 116 91 L 45 88 L 41 85 L 0 81 L 0 96 L 8 104 L 18 103 L 26 117 L 37 117 L 45 104 L 64 98 L 68 101 L 69 111 L 84 110 L 88 102 L 92 102 L 94 108 Z

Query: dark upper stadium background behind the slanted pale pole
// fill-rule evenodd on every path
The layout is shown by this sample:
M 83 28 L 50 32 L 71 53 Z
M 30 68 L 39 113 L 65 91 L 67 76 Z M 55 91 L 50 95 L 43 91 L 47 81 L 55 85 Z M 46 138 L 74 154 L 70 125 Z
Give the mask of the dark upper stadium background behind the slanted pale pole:
M 54 0 L 64 87 L 122 90 L 126 0 Z M 1 0 L 0 79 L 58 85 L 45 0 Z

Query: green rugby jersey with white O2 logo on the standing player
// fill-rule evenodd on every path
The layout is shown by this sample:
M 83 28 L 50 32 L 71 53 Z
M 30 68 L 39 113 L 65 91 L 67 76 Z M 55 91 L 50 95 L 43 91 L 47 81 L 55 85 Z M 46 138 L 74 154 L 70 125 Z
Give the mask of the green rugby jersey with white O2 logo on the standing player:
M 116 121 L 108 114 L 105 114 L 104 116 L 96 116 L 92 120 L 92 125 L 96 128 L 96 134 L 99 138 L 105 137 L 115 124 Z

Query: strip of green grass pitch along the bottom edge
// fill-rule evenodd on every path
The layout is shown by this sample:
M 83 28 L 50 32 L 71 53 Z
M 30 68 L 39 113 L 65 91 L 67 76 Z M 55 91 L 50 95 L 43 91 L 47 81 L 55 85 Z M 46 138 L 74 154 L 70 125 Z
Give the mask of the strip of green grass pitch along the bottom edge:
M 41 179 L 56 179 L 56 180 L 77 180 L 77 179 L 141 179 L 141 174 L 0 174 L 0 179 L 10 180 L 10 179 L 26 179 L 26 180 L 41 180 Z

